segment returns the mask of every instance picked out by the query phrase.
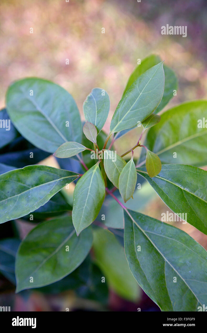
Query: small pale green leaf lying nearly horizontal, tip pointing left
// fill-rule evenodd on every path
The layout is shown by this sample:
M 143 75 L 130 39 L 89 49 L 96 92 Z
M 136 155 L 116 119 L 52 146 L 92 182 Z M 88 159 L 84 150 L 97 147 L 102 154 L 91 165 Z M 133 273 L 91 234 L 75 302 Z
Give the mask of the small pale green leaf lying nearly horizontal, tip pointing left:
M 83 152 L 84 150 L 86 150 L 87 148 L 81 144 L 79 144 L 78 142 L 65 142 L 64 144 L 62 144 L 57 150 L 56 152 L 54 152 L 54 156 L 55 157 L 59 157 L 61 159 L 65 159 L 71 156 L 75 156 L 81 152 Z

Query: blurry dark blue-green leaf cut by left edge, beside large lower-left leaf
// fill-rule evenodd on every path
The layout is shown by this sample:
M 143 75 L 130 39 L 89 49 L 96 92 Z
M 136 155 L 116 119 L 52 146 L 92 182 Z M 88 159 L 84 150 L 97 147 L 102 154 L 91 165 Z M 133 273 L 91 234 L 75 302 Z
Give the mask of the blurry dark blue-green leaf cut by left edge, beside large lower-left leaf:
M 16 284 L 14 263 L 20 240 L 6 238 L 0 240 L 0 272 L 12 283 Z

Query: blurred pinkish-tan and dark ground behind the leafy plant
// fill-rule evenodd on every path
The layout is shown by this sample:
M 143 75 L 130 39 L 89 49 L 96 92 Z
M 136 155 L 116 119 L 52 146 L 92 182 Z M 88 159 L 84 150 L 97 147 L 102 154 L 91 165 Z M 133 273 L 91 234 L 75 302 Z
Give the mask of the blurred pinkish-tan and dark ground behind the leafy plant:
M 110 114 L 104 126 L 109 132 L 113 112 L 137 59 L 152 53 L 165 60 L 178 77 L 177 96 L 164 110 L 207 97 L 206 0 L 1 0 L 0 15 L 0 108 L 5 106 L 5 93 L 12 81 L 37 76 L 65 88 L 83 119 L 86 96 L 100 87 L 110 96 Z M 187 37 L 161 35 L 161 26 L 166 24 L 187 26 Z M 118 146 L 126 151 L 136 139 L 137 134 L 131 131 L 117 140 L 117 153 Z M 56 166 L 51 157 L 44 163 Z M 149 187 L 145 194 L 151 200 L 142 211 L 160 219 L 166 206 Z M 180 227 L 207 249 L 206 235 L 189 224 Z M 24 237 L 31 227 L 20 221 L 16 228 Z M 1 238 L 4 233 L 8 236 L 5 226 L 1 232 Z M 19 294 L 14 289 L 1 275 L 0 303 L 11 304 L 13 311 L 65 311 L 66 307 L 73 311 L 159 310 L 141 290 L 132 302 L 110 289 L 103 305 L 83 291 L 75 293 L 64 287 L 57 287 L 56 292 L 48 289 Z

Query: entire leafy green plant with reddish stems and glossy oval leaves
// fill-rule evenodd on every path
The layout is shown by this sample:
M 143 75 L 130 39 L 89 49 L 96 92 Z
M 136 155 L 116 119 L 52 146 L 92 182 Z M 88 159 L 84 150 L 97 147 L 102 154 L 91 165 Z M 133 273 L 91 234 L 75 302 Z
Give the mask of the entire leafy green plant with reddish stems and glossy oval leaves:
M 106 135 L 110 100 L 104 89 L 94 88 L 86 98 L 81 124 L 72 96 L 52 82 L 26 78 L 8 88 L 6 109 L 0 111 L 1 119 L 11 120 L 10 131 L 0 130 L 0 222 L 36 222 L 20 245 L 0 240 L 2 252 L 16 252 L 16 292 L 50 284 L 58 289 L 63 279 L 68 289 L 90 281 L 95 293 L 85 296 L 100 296 L 102 302 L 107 285 L 136 301 L 139 284 L 162 311 L 199 311 L 207 304 L 205 249 L 179 228 L 139 212 L 142 178 L 141 187 L 149 183 L 175 214 L 184 213 L 207 234 L 207 171 L 200 168 L 207 164 L 207 101 L 160 113 L 176 91 L 173 71 L 158 56 L 144 59 L 129 78 Z M 114 142 L 137 127 L 143 131 L 136 145 L 118 156 Z M 17 140 L 29 145 L 22 146 L 24 160 L 18 154 L 9 158 Z M 141 149 L 139 161 L 135 149 Z M 50 154 L 61 168 L 37 165 Z M 64 189 L 71 182 L 73 202 Z M 108 219 L 110 210 L 114 215 Z M 122 238 L 123 227 L 121 241 L 117 231 Z M 15 283 L 14 271 L 1 265 L 0 270 Z

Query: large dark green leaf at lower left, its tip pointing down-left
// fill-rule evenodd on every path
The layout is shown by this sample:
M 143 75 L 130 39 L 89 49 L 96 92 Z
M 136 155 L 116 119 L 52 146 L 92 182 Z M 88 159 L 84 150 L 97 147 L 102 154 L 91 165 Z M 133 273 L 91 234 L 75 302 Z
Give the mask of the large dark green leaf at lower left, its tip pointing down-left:
M 85 259 L 91 245 L 91 229 L 77 237 L 70 216 L 38 224 L 22 241 L 17 253 L 16 292 L 48 285 L 70 274 Z

